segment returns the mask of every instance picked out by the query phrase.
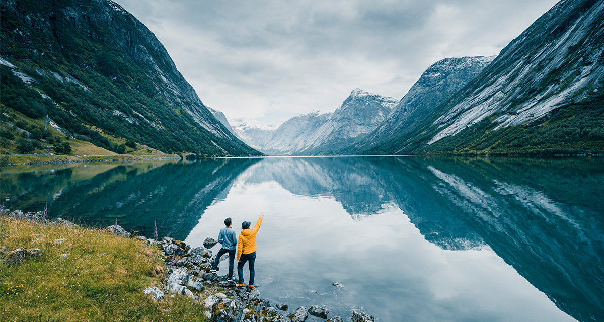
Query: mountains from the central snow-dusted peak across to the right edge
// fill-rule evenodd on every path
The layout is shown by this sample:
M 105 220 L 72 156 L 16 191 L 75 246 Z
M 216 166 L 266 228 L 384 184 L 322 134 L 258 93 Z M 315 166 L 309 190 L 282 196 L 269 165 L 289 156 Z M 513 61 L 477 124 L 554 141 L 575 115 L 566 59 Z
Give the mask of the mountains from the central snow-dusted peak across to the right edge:
M 262 152 L 604 153 L 602 25 L 604 2 L 560 1 L 498 56 L 434 63 L 391 112 L 382 109 L 368 118 L 361 111 L 373 103 L 364 100 L 342 104 L 339 109 L 351 117 L 347 122 L 336 117 L 338 110 L 297 115 L 275 131 Z M 360 124 L 366 125 L 362 133 Z

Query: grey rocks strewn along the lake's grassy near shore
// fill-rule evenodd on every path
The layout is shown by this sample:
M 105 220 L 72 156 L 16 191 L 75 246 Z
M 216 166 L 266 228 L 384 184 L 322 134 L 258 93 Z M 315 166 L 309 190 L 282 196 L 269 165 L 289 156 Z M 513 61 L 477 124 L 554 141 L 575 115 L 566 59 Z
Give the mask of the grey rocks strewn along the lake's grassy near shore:
M 68 225 L 76 224 L 57 218 L 49 221 L 45 218 L 43 211 L 37 213 L 23 213 L 21 210 L 6 211 L 7 216 L 21 220 L 31 220 L 45 225 Z M 310 308 L 300 307 L 293 312 L 288 312 L 289 306 L 284 303 L 272 303 L 271 300 L 262 298 L 258 289 L 249 287 L 237 288 L 234 281 L 227 280 L 226 275 L 218 275 L 210 272 L 216 255 L 208 248 L 216 245 L 216 240 L 207 238 L 204 246 L 192 248 L 186 243 L 170 237 L 161 240 L 148 239 L 144 236 L 132 236 L 120 225 L 111 225 L 106 228 L 118 237 L 134 238 L 141 240 L 146 245 L 156 246 L 163 257 L 165 274 L 161 287 L 151 286 L 144 289 L 154 301 L 164 301 L 166 297 L 187 296 L 205 306 L 208 311 L 205 314 L 208 320 L 213 322 L 374 322 L 371 315 L 352 310 L 352 317 L 343 319 L 339 316 L 330 315 L 329 309 L 313 305 Z M 64 241 L 64 240 L 63 240 Z M 55 240 L 60 243 L 62 240 Z M 3 261 L 7 265 L 18 265 L 28 257 L 42 256 L 42 250 L 32 248 L 17 248 L 8 251 Z M 228 254 L 223 255 L 220 261 L 228 259 Z M 335 288 L 343 288 L 340 283 L 334 283 Z

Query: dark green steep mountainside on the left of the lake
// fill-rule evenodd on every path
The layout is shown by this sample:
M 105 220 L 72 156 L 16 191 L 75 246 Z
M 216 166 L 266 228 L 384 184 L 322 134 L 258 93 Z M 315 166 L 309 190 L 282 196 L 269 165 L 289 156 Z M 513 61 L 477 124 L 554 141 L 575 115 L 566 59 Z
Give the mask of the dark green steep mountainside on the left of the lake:
M 115 2 L 0 4 L 8 108 L 33 118 L 48 114 L 94 144 L 107 145 L 110 134 L 165 152 L 259 155 L 216 120 L 155 35 Z M 14 76 L 40 94 L 19 104 Z

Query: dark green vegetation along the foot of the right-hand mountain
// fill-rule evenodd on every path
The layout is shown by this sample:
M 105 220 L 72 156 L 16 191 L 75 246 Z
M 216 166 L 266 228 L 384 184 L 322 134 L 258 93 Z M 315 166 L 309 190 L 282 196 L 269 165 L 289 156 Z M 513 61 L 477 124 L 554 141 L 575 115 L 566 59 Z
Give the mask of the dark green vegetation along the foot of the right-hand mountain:
M 604 153 L 604 95 L 593 100 L 557 108 L 545 117 L 527 124 L 493 130 L 497 115 L 467 127 L 460 133 L 427 145 L 436 126 L 425 118 L 402 131 L 399 137 L 385 143 L 371 154 L 438 154 L 438 155 L 561 155 Z M 418 129 L 429 128 L 411 136 Z M 399 141 L 400 138 L 406 138 Z M 396 140 L 399 139 L 399 140 Z

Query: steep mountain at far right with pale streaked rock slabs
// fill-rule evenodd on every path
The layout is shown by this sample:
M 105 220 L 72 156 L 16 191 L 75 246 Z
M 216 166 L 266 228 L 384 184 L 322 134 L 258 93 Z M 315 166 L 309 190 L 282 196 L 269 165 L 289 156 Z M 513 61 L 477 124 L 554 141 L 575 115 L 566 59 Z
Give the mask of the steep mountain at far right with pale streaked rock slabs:
M 363 153 L 604 151 L 603 24 L 604 2 L 559 2 L 434 113 Z

